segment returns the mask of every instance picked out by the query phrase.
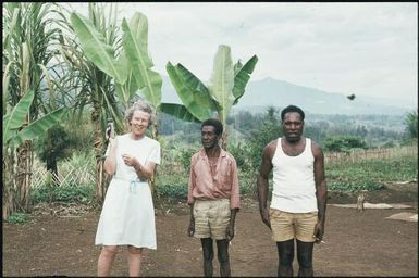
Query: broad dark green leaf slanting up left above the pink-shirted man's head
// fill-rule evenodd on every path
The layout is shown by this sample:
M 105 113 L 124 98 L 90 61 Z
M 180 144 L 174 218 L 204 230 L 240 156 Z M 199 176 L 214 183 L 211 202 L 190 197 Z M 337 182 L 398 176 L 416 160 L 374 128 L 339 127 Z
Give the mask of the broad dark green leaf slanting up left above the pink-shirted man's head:
M 204 122 L 211 116 L 213 100 L 207 87 L 183 65 L 165 65 L 169 77 L 185 108 L 194 117 Z

